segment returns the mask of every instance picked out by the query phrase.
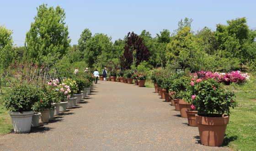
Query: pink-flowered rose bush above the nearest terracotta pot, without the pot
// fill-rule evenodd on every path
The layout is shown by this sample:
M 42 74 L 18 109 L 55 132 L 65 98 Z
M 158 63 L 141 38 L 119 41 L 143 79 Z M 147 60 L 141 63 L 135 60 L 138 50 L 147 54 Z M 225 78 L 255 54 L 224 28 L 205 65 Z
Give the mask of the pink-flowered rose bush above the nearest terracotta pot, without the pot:
M 218 117 L 229 115 L 229 108 L 236 106 L 234 92 L 223 89 L 223 85 L 213 78 L 192 78 L 188 89 L 183 99 L 192 103 L 193 108 L 205 116 L 213 116 L 214 113 L 217 113 Z

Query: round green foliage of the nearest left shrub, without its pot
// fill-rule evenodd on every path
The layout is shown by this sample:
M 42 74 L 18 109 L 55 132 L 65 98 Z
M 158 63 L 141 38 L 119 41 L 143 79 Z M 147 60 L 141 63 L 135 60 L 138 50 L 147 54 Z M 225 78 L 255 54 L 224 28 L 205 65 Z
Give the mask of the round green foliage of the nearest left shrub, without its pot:
M 15 84 L 0 99 L 0 103 L 5 109 L 14 112 L 24 112 L 33 110 L 33 105 L 40 101 L 39 89 L 33 84 Z

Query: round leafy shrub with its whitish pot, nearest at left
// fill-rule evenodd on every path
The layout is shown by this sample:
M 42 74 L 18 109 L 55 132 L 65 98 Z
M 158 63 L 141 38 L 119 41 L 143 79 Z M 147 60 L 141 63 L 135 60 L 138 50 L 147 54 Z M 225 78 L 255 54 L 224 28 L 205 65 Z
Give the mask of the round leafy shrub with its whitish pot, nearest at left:
M 14 83 L 10 90 L 3 95 L 0 103 L 9 110 L 14 132 L 30 131 L 34 104 L 40 102 L 40 91 L 33 83 Z

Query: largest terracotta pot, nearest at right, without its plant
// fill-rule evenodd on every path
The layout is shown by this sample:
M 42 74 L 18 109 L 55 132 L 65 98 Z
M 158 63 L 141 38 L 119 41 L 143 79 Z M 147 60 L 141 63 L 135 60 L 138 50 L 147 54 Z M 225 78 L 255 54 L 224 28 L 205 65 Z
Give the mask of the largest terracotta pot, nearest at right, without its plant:
M 212 114 L 216 117 L 206 117 L 204 114 L 196 115 L 201 144 L 206 146 L 221 146 L 224 140 L 229 116 Z

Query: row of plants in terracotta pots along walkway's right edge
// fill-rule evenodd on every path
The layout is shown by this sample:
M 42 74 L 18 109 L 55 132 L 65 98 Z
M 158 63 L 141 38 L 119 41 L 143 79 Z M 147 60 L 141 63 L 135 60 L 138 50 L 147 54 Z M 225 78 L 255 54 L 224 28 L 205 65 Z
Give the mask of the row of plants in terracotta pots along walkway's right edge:
M 198 127 L 203 145 L 221 146 L 229 123 L 229 109 L 236 106 L 235 94 L 224 89 L 224 83 L 216 77 L 195 76 L 201 73 L 155 71 L 151 79 L 155 92 L 166 102 L 171 101 L 181 117 L 188 119 L 188 125 Z

